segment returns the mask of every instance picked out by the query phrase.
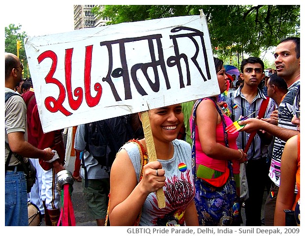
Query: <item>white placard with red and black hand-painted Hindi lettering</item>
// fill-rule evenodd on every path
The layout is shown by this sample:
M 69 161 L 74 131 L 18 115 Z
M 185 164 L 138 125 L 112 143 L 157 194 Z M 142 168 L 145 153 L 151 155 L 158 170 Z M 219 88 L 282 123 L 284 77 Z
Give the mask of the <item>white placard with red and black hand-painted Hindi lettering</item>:
M 27 37 L 44 132 L 219 94 L 205 16 Z

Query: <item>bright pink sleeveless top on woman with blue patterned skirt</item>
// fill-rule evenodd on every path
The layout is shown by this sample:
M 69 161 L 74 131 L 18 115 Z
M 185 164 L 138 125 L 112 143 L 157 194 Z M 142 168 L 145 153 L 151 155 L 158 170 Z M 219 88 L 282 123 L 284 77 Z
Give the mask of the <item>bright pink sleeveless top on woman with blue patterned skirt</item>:
M 232 120 L 224 115 L 224 119 L 226 121 L 227 126 L 232 124 Z M 192 129 L 192 116 L 189 119 L 190 127 Z M 236 139 L 238 137 L 238 132 L 234 134 L 228 134 L 229 147 L 233 149 L 238 149 L 236 145 Z M 216 142 L 225 146 L 224 142 L 224 130 L 222 126 L 222 122 L 216 125 Z M 200 140 L 199 140 L 199 132 L 197 125 L 195 126 L 195 147 L 196 147 L 196 164 L 201 164 L 206 167 L 209 167 L 213 170 L 225 172 L 226 167 L 228 166 L 226 160 L 217 160 L 207 156 L 201 148 Z M 232 160 L 233 166 L 233 174 L 240 173 L 240 164 L 237 160 Z

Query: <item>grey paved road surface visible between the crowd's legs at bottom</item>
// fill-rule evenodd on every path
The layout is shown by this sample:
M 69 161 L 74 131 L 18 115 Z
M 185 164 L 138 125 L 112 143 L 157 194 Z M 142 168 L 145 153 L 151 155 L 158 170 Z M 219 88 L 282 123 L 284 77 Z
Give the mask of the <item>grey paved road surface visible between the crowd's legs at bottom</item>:
M 74 171 L 75 157 L 71 157 L 69 165 L 66 167 L 67 170 L 73 173 Z M 266 200 L 267 192 L 265 191 L 264 203 Z M 83 194 L 83 183 L 74 181 L 73 192 L 72 192 L 72 204 L 74 209 L 76 226 L 96 226 L 95 219 L 87 210 L 87 204 L 85 196 Z M 264 204 L 262 206 L 262 217 L 264 216 Z M 244 208 L 242 208 L 242 217 L 245 223 Z M 245 224 L 242 224 L 244 226 Z M 41 226 L 45 226 L 44 219 L 42 220 Z

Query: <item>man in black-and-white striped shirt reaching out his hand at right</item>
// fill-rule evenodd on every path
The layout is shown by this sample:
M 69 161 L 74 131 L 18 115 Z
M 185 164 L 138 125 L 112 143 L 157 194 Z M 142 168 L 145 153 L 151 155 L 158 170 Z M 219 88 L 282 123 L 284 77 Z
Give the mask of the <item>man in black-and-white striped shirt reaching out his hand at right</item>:
M 288 92 L 278 106 L 278 125 L 268 122 L 269 119 L 251 118 L 239 122 L 241 125 L 246 124 L 242 129 L 245 132 L 265 130 L 275 136 L 269 171 L 269 177 L 273 183 L 265 204 L 266 226 L 274 225 L 274 210 L 280 184 L 280 161 L 283 149 L 286 141 L 299 133 L 296 125 L 291 123 L 291 119 L 294 116 L 294 99 L 298 89 L 300 89 L 300 38 L 288 37 L 280 41 L 275 49 L 274 58 L 277 75 L 282 77 L 288 86 Z

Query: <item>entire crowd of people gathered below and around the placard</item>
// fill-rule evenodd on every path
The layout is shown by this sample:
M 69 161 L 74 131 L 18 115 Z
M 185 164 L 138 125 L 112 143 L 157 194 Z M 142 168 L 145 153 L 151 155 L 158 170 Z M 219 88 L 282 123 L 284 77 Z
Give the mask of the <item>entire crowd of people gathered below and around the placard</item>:
M 243 59 L 235 82 L 214 58 L 221 94 L 149 110 L 155 161 L 149 161 L 148 137 L 139 129 L 142 113 L 128 119 L 140 132 L 116 144 L 107 171 L 88 148 L 92 124 L 78 125 L 74 179 L 83 182 L 97 226 L 285 226 L 291 213 L 290 224 L 300 225 L 300 38 L 280 41 L 274 57 L 272 75 L 260 58 Z M 29 224 L 28 202 L 39 207 L 46 225 L 56 226 L 56 174 L 65 169 L 62 130 L 43 133 L 34 89 L 22 81 L 22 70 L 20 59 L 5 53 L 5 226 Z M 27 193 L 22 161 L 29 160 L 37 181 Z

